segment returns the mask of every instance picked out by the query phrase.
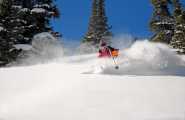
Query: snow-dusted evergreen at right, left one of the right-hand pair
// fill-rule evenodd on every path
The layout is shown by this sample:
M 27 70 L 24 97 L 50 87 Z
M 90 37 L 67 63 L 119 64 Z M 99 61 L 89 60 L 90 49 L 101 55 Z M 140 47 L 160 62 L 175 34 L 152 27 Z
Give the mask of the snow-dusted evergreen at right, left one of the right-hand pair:
M 154 13 L 150 28 L 154 32 L 152 41 L 169 44 L 174 32 L 174 19 L 168 9 L 171 0 L 151 0 Z

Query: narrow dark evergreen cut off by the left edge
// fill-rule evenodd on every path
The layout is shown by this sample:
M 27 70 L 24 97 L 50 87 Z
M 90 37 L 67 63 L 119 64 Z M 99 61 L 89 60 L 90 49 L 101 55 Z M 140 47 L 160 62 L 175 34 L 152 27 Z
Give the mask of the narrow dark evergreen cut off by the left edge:
M 9 30 L 6 16 L 10 14 L 11 5 L 11 0 L 3 0 L 0 4 L 0 67 L 14 61 L 20 52 L 13 46 L 12 38 L 8 39 Z

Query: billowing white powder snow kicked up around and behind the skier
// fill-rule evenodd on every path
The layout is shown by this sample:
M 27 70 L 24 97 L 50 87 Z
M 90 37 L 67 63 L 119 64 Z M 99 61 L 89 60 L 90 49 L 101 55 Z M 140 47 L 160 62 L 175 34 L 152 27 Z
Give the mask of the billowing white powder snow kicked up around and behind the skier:
M 119 70 L 112 60 L 101 60 L 102 74 L 114 75 L 185 75 L 185 61 L 168 46 L 148 41 L 137 41 L 130 48 L 121 50 L 116 59 Z M 97 67 L 93 68 L 96 73 Z M 98 71 L 100 71 L 98 69 Z

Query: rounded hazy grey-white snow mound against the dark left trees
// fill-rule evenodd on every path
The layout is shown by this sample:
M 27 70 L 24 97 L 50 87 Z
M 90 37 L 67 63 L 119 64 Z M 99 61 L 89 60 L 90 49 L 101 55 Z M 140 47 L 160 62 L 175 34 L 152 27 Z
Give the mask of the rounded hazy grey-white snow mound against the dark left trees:
M 17 46 L 25 47 L 25 46 Z M 50 33 L 44 32 L 34 36 L 31 49 L 24 53 L 26 57 L 19 59 L 17 65 L 34 65 L 40 63 L 48 63 L 57 58 L 61 58 L 64 54 L 62 44 L 58 39 Z

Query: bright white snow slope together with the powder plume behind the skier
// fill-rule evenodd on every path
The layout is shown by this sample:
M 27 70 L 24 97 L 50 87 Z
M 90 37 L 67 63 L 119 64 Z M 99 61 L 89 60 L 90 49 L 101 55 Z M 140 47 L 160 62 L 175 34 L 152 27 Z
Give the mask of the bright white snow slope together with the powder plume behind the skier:
M 185 57 L 147 41 L 0 69 L 0 120 L 184 120 Z

